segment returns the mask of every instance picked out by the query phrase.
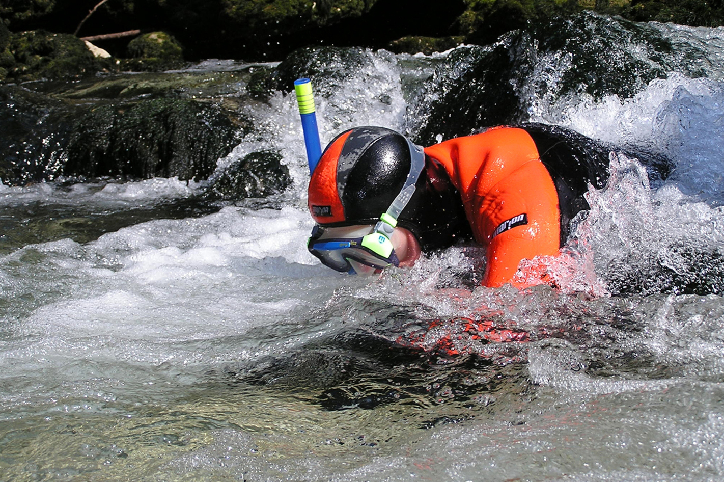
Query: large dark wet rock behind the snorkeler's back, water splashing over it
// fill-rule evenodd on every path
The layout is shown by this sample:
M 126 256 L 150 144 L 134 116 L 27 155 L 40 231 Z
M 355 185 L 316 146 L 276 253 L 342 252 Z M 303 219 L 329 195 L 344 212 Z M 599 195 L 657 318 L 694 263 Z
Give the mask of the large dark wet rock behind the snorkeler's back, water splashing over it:
M 409 117 L 417 122 L 416 141 L 432 144 L 438 135 L 525 122 L 542 99 L 626 99 L 668 72 L 706 75 L 706 56 L 694 46 L 674 49 L 652 25 L 582 12 L 515 30 L 491 46 L 452 51 Z

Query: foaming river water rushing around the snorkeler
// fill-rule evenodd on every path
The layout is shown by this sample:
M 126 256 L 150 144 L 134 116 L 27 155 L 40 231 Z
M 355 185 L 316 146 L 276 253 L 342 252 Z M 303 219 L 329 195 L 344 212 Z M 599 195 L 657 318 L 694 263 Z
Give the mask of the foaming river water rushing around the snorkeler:
M 0 480 L 722 480 L 724 30 L 654 28 L 706 68 L 546 97 L 534 84 L 568 61 L 542 58 L 518 86 L 527 120 L 674 165 L 660 180 L 612 151 L 547 260 L 558 289 L 476 286 L 470 245 L 376 278 L 321 267 L 288 92 L 219 159 L 281 152 L 294 182 L 269 199 L 208 209 L 203 182 L 160 178 L 0 185 Z M 323 142 L 414 133 L 459 50 L 359 51 L 319 83 Z

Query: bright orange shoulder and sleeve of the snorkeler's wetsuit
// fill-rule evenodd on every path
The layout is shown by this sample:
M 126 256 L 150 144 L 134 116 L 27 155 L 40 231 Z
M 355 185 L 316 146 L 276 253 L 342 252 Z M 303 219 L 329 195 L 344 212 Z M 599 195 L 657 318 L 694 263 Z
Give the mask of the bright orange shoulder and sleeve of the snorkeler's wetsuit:
M 558 253 L 557 191 L 525 130 L 494 128 L 435 144 L 425 154 L 445 166 L 473 236 L 486 247 L 482 284 L 513 283 L 521 259 Z

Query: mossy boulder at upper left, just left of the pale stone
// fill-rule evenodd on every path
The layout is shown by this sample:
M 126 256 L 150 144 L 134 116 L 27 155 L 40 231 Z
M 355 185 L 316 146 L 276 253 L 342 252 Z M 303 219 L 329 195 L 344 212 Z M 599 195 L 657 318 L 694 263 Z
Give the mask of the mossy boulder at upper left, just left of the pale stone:
M 78 77 L 110 66 L 109 61 L 93 57 L 80 38 L 45 30 L 12 34 L 9 53 L 8 77 L 18 80 Z M 7 65 L 11 60 L 5 56 L 2 62 Z

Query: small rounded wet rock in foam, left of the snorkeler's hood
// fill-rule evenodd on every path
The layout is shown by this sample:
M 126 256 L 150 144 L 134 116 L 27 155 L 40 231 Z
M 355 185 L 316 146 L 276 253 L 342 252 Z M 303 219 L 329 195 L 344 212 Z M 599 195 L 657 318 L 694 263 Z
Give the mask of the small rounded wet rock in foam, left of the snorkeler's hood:
M 234 201 L 279 194 L 292 183 L 289 169 L 281 160 L 282 155 L 276 151 L 252 152 L 216 176 L 206 197 Z

